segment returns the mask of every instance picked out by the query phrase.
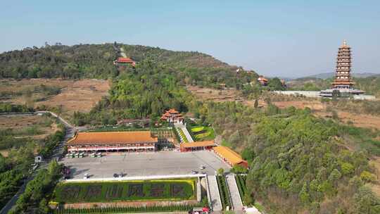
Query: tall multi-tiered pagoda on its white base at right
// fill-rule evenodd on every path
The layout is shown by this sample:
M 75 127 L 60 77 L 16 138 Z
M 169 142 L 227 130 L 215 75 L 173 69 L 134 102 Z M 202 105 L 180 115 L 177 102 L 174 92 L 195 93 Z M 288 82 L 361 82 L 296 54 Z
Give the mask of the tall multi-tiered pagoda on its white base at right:
M 321 91 L 319 93 L 320 96 L 332 97 L 333 94 L 336 94 L 336 96 L 364 94 L 363 91 L 353 88 L 355 82 L 353 82 L 350 75 L 351 62 L 351 48 L 345 40 L 338 49 L 335 80 L 332 82 L 332 87 L 331 89 Z

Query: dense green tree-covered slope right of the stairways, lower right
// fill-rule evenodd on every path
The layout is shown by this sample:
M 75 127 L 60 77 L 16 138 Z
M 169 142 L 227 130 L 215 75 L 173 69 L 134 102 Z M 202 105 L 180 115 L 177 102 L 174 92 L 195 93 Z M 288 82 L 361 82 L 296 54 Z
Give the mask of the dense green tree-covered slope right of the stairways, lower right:
M 368 153 L 379 151 L 379 140 L 366 148 L 360 139 L 360 133 L 376 138 L 379 132 L 315 118 L 308 108 L 231 102 L 191 109 L 213 124 L 222 144 L 242 151 L 251 165 L 244 199 L 260 201 L 267 213 L 380 212 L 379 198 L 367 188 L 378 182 Z

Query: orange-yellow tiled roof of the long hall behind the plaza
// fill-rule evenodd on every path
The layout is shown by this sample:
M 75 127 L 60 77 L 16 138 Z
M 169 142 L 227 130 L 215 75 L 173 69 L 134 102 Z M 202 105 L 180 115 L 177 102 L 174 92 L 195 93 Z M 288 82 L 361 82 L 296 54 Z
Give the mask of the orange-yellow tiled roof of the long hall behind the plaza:
M 67 144 L 139 144 L 154 142 L 157 142 L 157 138 L 151 137 L 150 131 L 79 132 Z

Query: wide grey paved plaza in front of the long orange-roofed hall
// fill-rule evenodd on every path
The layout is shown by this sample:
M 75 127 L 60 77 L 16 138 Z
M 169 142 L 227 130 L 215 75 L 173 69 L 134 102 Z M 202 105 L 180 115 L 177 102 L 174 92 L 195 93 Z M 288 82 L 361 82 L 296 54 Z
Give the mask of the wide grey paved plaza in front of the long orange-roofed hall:
M 191 170 L 215 175 L 219 168 L 229 169 L 229 165 L 212 151 L 108 153 L 101 158 L 63 158 L 61 163 L 70 167 L 75 179 L 82 179 L 86 173 L 90 178 L 108 178 L 114 173 L 125 176 L 188 175 Z M 204 170 L 199 169 L 201 165 L 205 166 Z

